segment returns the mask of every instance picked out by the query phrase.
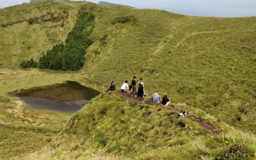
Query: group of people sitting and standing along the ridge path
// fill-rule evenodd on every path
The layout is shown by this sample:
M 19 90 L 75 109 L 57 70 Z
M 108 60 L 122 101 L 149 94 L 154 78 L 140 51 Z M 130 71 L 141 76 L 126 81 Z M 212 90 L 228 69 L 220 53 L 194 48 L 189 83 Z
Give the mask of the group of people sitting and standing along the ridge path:
M 126 80 L 120 89 L 124 93 L 127 93 L 128 91 L 130 91 L 134 98 L 144 100 L 143 96 L 147 96 L 146 94 L 144 94 L 144 82 L 142 80 L 142 77 L 140 77 L 140 80 L 138 81 L 138 91 L 136 91 L 136 78 L 137 78 L 136 76 L 133 77 L 130 86 L 128 85 L 128 80 Z M 114 91 L 114 90 L 116 90 L 116 85 L 114 81 L 112 81 L 110 84 L 110 87 L 106 92 Z M 161 99 L 158 91 L 152 94 L 152 101 L 154 103 L 161 102 L 162 106 L 168 106 L 170 104 L 167 94 L 165 93 Z

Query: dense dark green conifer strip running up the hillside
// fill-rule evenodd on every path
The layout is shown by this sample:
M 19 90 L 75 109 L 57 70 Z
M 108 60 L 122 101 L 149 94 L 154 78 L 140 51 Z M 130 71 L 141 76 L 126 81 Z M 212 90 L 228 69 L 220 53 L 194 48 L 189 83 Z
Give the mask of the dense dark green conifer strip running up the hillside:
M 82 8 L 78 13 L 74 29 L 67 36 L 66 45 L 56 44 L 52 50 L 43 53 L 39 60 L 39 68 L 51 70 L 82 68 L 86 49 L 92 44 L 89 36 L 93 30 L 93 22 L 94 15 Z

